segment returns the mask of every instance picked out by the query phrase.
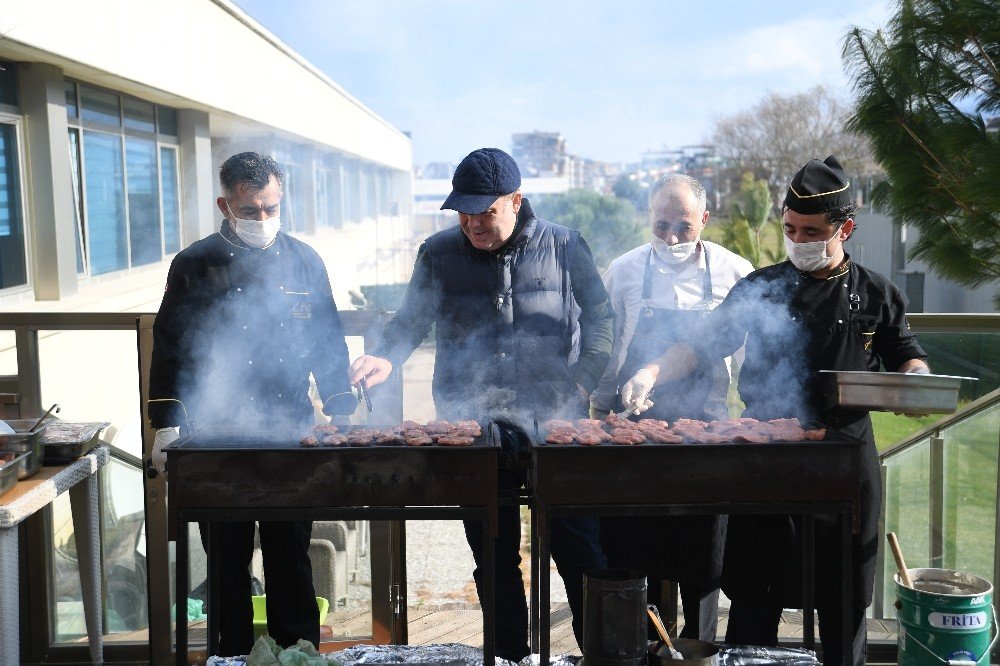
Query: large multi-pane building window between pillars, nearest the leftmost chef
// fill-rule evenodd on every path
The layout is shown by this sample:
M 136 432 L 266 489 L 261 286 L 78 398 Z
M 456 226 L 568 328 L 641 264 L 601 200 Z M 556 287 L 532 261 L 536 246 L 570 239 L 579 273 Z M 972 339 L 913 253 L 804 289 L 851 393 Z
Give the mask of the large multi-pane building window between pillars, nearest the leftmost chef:
M 77 269 L 101 275 L 178 252 L 176 110 L 72 81 L 66 108 Z

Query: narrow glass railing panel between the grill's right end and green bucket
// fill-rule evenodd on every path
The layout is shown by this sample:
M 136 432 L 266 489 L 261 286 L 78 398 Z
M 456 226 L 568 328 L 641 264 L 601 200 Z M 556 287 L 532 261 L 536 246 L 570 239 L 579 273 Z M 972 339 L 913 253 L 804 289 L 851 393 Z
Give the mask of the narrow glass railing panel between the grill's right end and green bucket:
M 885 530 L 895 532 L 910 567 L 926 567 L 930 562 L 930 441 L 924 440 L 886 460 Z M 891 556 L 883 560 L 884 598 L 895 599 L 892 576 L 896 564 Z M 886 616 L 895 617 L 891 603 Z

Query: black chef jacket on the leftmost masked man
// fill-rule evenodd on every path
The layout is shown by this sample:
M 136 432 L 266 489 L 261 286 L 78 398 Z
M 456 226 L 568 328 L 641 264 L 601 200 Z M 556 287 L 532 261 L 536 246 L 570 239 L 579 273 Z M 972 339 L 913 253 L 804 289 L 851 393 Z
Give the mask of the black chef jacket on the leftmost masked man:
M 224 222 L 170 264 L 153 327 L 150 421 L 301 427 L 313 416 L 309 373 L 326 400 L 350 391 L 347 366 L 316 251 L 280 232 L 267 248 L 248 247 Z

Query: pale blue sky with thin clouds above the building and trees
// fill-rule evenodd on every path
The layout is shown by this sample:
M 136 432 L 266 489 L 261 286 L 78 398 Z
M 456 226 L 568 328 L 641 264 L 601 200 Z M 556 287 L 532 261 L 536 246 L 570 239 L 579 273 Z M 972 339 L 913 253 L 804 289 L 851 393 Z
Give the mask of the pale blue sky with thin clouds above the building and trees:
M 707 139 L 766 91 L 849 94 L 851 25 L 885 0 L 235 0 L 401 130 L 414 163 L 559 131 L 607 161 Z M 238 45 L 236 45 L 238 46 Z

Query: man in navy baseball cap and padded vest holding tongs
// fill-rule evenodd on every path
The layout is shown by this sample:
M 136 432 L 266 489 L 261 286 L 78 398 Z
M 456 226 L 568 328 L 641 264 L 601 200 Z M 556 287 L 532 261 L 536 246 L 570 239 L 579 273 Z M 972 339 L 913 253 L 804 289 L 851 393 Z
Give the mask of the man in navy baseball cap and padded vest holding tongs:
M 442 209 L 458 211 L 458 225 L 420 246 L 396 316 L 372 354 L 356 359 L 350 381 L 384 382 L 432 330 L 435 416 L 494 421 L 504 450 L 529 446 L 528 429 L 551 418 L 584 418 L 590 392 L 611 356 L 614 310 L 590 247 L 580 232 L 537 217 L 521 196 L 521 173 L 496 148 L 469 153 L 455 170 Z M 579 354 L 573 353 L 574 336 Z M 520 492 L 520 469 L 498 470 L 502 493 Z M 503 506 L 497 534 L 484 539 L 479 521 L 465 533 L 483 592 L 484 557 L 495 562 L 496 656 L 518 662 L 531 653 L 528 604 L 521 572 L 521 519 Z M 566 584 L 573 632 L 583 644 L 583 573 L 603 569 L 597 519 L 552 519 L 552 557 Z M 485 618 L 484 618 L 485 621 Z M 489 639 L 484 645 L 488 652 Z

